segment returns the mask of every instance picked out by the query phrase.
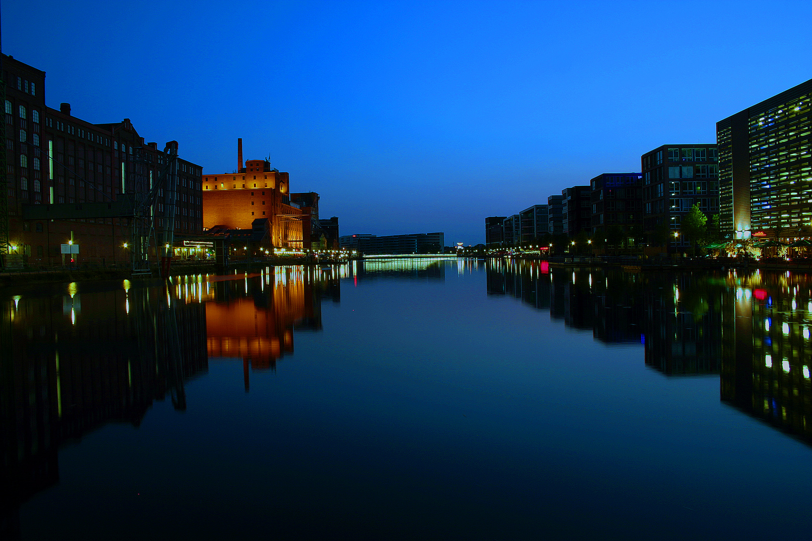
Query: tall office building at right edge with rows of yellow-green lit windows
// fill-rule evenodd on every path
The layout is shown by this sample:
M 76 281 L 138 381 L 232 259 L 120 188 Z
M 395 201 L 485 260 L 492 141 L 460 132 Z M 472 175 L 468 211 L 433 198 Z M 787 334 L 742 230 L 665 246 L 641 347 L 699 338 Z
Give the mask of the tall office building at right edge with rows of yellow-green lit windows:
M 723 234 L 812 237 L 812 79 L 716 122 Z

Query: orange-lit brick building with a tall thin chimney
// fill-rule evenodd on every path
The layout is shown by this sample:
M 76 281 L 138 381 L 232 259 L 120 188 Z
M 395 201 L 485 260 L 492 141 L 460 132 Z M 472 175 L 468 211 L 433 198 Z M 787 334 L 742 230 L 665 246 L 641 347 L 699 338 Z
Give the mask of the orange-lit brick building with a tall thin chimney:
M 237 140 L 238 169 L 203 177 L 203 228 L 250 230 L 257 219 L 268 221 L 274 247 L 303 247 L 300 205 L 290 197 L 288 174 L 272 169 L 270 161 L 243 165 L 243 140 Z

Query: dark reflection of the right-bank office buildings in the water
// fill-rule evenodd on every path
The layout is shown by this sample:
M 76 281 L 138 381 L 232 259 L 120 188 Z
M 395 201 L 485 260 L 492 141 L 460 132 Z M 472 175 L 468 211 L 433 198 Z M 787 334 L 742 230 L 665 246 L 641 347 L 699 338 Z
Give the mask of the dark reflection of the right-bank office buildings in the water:
M 812 278 L 625 273 L 497 260 L 487 294 L 512 295 L 596 340 L 645 349 L 667 376 L 720 375 L 722 401 L 812 444 Z

